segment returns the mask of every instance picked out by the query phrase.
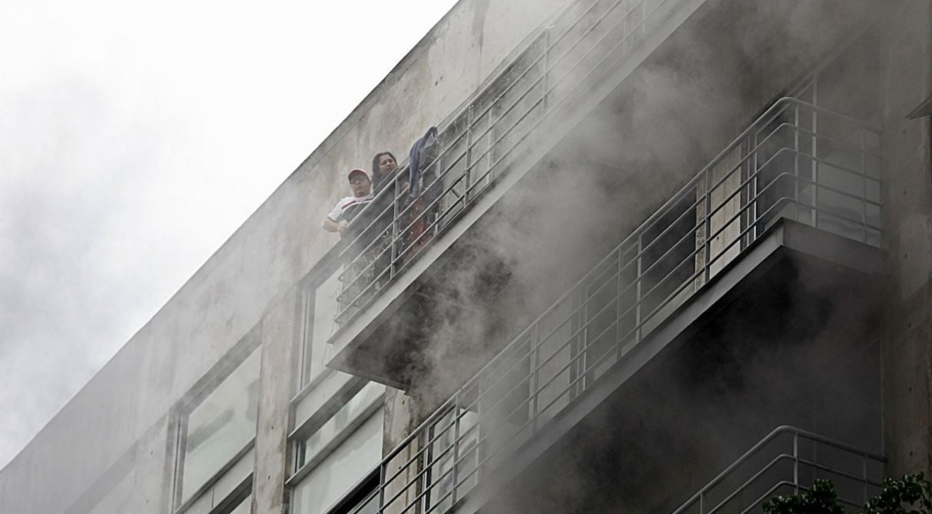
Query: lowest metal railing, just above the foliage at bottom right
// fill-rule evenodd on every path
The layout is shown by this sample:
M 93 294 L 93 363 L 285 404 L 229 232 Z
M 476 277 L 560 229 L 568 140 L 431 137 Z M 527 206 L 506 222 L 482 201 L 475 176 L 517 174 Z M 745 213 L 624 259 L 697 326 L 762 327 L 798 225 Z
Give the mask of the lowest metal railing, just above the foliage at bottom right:
M 884 455 L 780 426 L 693 494 L 673 514 L 749 514 L 775 494 L 807 491 L 832 480 L 839 501 L 858 508 L 880 492 Z M 849 509 L 850 509 L 849 508 Z

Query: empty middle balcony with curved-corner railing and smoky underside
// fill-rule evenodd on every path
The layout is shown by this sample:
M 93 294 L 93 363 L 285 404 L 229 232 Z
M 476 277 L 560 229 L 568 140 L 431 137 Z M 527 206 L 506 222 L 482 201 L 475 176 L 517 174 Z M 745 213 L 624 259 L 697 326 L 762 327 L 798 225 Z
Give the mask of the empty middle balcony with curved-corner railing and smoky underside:
M 863 339 L 883 275 L 879 134 L 775 102 L 389 453 L 378 512 L 477 511 L 597 410 L 643 415 L 620 391 L 666 383 L 677 356 Z M 854 352 L 839 345 L 816 368 Z M 776 390 L 824 388 L 784 372 Z

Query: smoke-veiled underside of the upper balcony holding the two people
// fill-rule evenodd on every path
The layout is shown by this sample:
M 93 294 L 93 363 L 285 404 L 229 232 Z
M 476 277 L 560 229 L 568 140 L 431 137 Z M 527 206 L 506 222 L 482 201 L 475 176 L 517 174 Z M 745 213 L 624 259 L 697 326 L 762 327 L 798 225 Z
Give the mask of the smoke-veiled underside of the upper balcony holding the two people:
M 455 221 L 433 237 L 418 257 L 407 264 L 403 273 L 392 278 L 370 304 L 336 331 L 330 340 L 334 357 L 327 366 L 410 391 L 427 369 L 454 360 L 444 357 L 438 360 L 436 356 L 446 350 L 437 351 L 433 347 L 437 327 L 451 327 L 450 333 L 444 336 L 446 348 L 462 348 L 463 353 L 474 357 L 474 361 L 457 358 L 457 370 L 440 370 L 444 381 L 455 387 L 496 353 L 499 347 L 495 347 L 495 342 L 510 340 L 523 323 L 529 321 L 514 316 L 496 319 L 492 311 L 517 312 L 523 307 L 530 314 L 540 312 L 559 296 L 561 287 L 568 289 L 575 277 L 583 275 L 615 242 L 622 240 L 666 197 L 675 193 L 678 183 L 692 174 L 697 163 L 708 162 L 715 156 L 733 136 L 730 133 L 733 127 L 753 119 L 761 109 L 759 95 L 780 93 L 779 89 L 761 93 L 761 83 L 788 87 L 795 77 L 783 76 L 787 69 L 814 66 L 814 56 L 821 58 L 828 53 L 842 38 L 839 34 L 854 32 L 861 20 L 859 14 L 852 14 L 858 12 L 857 7 L 851 6 L 844 12 L 847 16 L 830 15 L 831 26 L 823 27 L 820 37 L 808 43 L 804 56 L 794 49 L 781 53 L 774 49 L 781 48 L 774 47 L 774 41 L 782 41 L 787 33 L 808 30 L 792 25 L 801 18 L 795 12 L 799 6 L 769 13 L 771 30 L 765 34 L 747 34 L 747 23 L 742 16 L 760 15 L 760 6 L 770 5 L 761 2 L 760 5 L 747 0 L 679 2 L 672 15 L 652 34 L 646 35 L 624 61 L 606 67 L 610 72 L 591 85 L 588 94 L 573 104 L 559 123 L 541 126 L 538 131 L 546 134 L 533 135 L 527 151 L 495 179 L 483 196 L 459 213 Z M 826 7 L 835 2 L 824 0 L 818 3 L 820 7 L 803 4 L 821 12 L 828 20 L 829 15 L 825 13 L 831 11 Z M 722 16 L 722 13 L 731 14 Z M 733 34 L 733 37 L 725 34 Z M 740 39 L 744 47 L 737 45 L 735 38 Z M 702 45 L 697 45 L 697 41 Z M 767 49 L 767 59 L 747 60 L 746 52 L 753 51 L 748 47 L 755 46 Z M 697 55 L 697 47 L 703 47 L 706 54 Z M 702 85 L 702 91 L 692 90 L 697 69 L 707 76 L 730 77 L 736 66 L 742 70 L 741 80 L 711 80 Z M 651 81 L 658 76 L 669 88 L 687 92 L 676 99 L 646 101 L 645 93 L 653 94 L 656 85 Z M 737 84 L 741 81 L 747 83 Z M 747 98 L 744 93 L 748 93 Z M 727 102 L 716 100 L 710 105 L 693 98 L 693 94 L 740 101 L 726 105 Z M 632 125 L 635 119 L 624 115 L 634 110 L 637 116 L 633 117 L 651 120 L 650 130 L 645 132 L 643 127 Z M 611 131 L 607 133 L 606 129 Z M 609 138 L 611 142 L 594 144 L 593 134 Z M 651 134 L 664 137 L 644 141 Z M 681 141 L 682 138 L 688 141 Z M 641 150 L 650 145 L 651 161 L 643 160 L 643 151 L 626 151 L 623 144 L 615 141 L 631 142 Z M 572 183 L 563 182 L 558 187 L 548 187 L 547 183 L 553 178 L 548 175 L 548 169 L 559 167 L 561 173 L 569 173 L 569 170 L 577 173 L 580 163 L 589 176 L 602 173 L 609 177 L 607 180 L 612 183 L 609 189 L 615 188 L 616 196 L 606 195 L 610 197 L 605 204 L 607 208 L 597 213 L 600 219 L 593 220 L 591 212 L 567 211 L 561 213 L 564 218 L 560 223 L 571 227 L 568 231 L 575 234 L 569 236 L 554 232 L 552 226 L 545 223 L 530 226 L 528 234 L 519 235 L 523 239 L 516 237 L 522 242 L 488 236 L 502 233 L 500 229 L 507 223 L 501 220 L 524 215 L 528 211 L 525 205 L 528 196 L 541 198 L 534 208 L 541 211 L 545 211 L 548 202 L 551 207 L 574 200 L 587 202 L 589 197 L 572 196 L 575 194 Z M 612 163 L 612 168 L 594 170 L 598 166 L 596 163 Z M 666 170 L 662 172 L 667 173 L 668 180 L 658 181 L 655 175 L 658 170 Z M 532 245 L 524 242 L 530 239 L 535 239 Z M 580 241 L 584 243 L 580 245 Z M 528 288 L 521 283 L 524 277 L 514 273 L 515 262 L 528 263 L 540 259 L 541 255 L 558 254 L 570 245 L 577 245 L 578 257 L 552 263 L 549 267 L 538 266 L 541 273 L 536 279 L 546 277 L 541 281 L 552 281 L 552 287 Z M 522 247 L 531 247 L 533 251 Z M 467 268 L 473 270 L 472 277 L 460 273 Z M 461 279 L 449 280 L 448 276 Z M 483 291 L 484 304 L 474 302 L 475 291 L 468 291 L 479 287 L 487 290 Z M 523 299 L 515 300 L 514 296 L 523 296 Z M 469 317 L 482 320 L 483 330 L 456 328 L 455 318 Z M 476 341 L 481 343 L 477 345 Z M 437 390 L 431 394 L 443 398 L 448 392 L 451 391 Z

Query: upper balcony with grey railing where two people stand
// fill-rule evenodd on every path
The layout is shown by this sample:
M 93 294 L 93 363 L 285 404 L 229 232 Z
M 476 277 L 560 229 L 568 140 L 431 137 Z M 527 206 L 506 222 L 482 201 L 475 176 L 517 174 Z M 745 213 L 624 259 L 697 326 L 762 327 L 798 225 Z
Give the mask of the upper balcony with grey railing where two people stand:
M 328 278 L 316 295 L 336 304 L 326 313 L 318 302 L 318 318 L 333 319 L 318 329 L 335 351 L 328 367 L 406 388 L 406 356 L 420 338 L 405 317 L 438 310 L 418 278 L 610 93 L 615 74 L 629 73 L 703 3 L 569 2 L 531 34 L 441 127 L 418 198 L 395 178 L 377 193 L 366 226 L 355 227 L 359 236 L 323 261 Z

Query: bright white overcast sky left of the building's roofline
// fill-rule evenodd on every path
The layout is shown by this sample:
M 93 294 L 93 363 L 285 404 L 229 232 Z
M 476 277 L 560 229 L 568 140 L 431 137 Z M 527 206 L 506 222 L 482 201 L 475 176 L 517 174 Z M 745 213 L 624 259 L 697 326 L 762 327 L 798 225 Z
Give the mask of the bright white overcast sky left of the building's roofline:
M 0 1 L 0 467 L 455 3 Z

